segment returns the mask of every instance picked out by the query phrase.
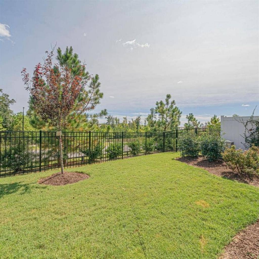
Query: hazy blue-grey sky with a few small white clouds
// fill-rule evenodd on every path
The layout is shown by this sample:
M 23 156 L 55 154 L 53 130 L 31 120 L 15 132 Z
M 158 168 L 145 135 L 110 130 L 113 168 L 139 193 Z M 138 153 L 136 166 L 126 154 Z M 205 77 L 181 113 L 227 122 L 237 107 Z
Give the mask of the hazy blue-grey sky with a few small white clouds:
M 258 10 L 258 1 L 1 1 L 0 88 L 15 112 L 27 107 L 20 71 L 57 42 L 99 74 L 97 110 L 145 117 L 170 93 L 182 123 L 190 112 L 201 122 L 248 116 L 259 100 Z

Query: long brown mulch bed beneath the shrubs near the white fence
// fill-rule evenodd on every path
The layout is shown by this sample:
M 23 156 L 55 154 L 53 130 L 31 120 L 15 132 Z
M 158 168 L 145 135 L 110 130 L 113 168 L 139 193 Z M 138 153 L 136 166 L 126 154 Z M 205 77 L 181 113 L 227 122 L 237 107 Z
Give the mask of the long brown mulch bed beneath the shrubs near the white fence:
M 210 172 L 211 174 L 214 174 L 217 176 L 226 177 L 231 180 L 236 180 L 241 183 L 247 183 L 247 184 L 251 184 L 259 187 L 258 176 L 254 176 L 254 177 L 251 177 L 249 175 L 240 176 L 237 173 L 230 170 L 229 168 L 227 168 L 224 161 L 210 162 L 207 159 L 204 159 L 202 156 L 199 156 L 198 158 L 179 157 L 176 160 L 180 162 L 184 162 L 191 166 L 203 168 L 208 172 Z

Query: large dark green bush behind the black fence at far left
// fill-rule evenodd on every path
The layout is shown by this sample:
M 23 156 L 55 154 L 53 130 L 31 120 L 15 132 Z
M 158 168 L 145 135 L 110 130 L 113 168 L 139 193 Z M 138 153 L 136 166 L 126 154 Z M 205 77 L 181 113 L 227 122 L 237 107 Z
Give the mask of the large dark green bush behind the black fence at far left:
M 27 140 L 16 141 L 6 146 L 6 150 L 1 152 L 1 168 L 11 171 L 22 172 L 33 166 L 36 153 L 31 149 L 31 143 Z

